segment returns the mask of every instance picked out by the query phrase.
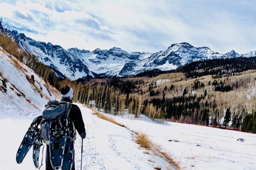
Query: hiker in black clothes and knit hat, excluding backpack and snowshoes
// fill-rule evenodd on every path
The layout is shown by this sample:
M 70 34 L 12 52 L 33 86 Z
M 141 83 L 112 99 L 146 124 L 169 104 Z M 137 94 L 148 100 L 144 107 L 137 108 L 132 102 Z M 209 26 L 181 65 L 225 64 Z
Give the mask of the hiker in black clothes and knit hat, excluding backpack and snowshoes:
M 72 103 L 73 89 L 71 87 L 64 86 L 64 87 L 60 88 L 60 93 L 61 93 L 61 96 L 62 96 L 60 101 L 71 102 Z M 75 104 L 72 104 L 68 117 L 73 121 L 73 123 L 75 125 L 75 128 L 78 131 L 78 134 L 80 135 L 80 137 L 82 139 L 85 139 L 86 131 L 85 131 L 85 128 L 84 128 L 84 121 L 83 121 L 83 118 L 82 118 L 82 113 L 81 113 L 79 107 L 76 106 Z M 50 162 L 49 145 L 46 145 L 46 146 L 47 146 L 47 149 L 46 149 L 46 170 L 54 170 L 52 168 L 51 162 Z M 72 170 L 75 170 L 75 161 L 73 161 Z

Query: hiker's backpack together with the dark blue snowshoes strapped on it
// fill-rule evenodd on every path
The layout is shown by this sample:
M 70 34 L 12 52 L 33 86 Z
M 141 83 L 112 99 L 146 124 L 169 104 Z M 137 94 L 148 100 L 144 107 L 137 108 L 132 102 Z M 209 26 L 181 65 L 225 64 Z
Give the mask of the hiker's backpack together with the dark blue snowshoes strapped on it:
M 50 100 L 45 107 L 42 116 L 34 119 L 25 134 L 17 151 L 16 161 L 20 164 L 28 150 L 34 145 L 33 160 L 34 165 L 38 168 L 38 157 L 42 146 L 40 141 L 43 140 L 49 145 L 52 167 L 70 170 L 74 159 L 74 141 L 76 140 L 74 123 L 68 118 L 71 102 Z

